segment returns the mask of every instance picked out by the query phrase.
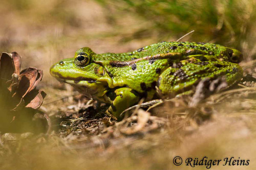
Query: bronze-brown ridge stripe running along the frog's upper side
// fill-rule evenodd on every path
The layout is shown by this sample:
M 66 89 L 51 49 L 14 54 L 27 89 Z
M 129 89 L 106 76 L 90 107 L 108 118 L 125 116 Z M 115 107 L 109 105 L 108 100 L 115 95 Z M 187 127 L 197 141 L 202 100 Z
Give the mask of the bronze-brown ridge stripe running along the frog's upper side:
M 134 63 L 137 63 L 142 60 L 167 59 L 167 58 L 173 57 L 173 56 L 182 57 L 183 54 L 181 54 L 181 53 L 156 54 L 154 56 L 146 56 L 146 57 L 134 59 L 131 61 L 110 61 L 109 64 L 112 67 L 125 67 L 125 66 L 129 66 L 129 65 L 133 65 Z M 102 62 L 100 62 L 100 61 L 96 61 L 95 63 L 102 65 Z

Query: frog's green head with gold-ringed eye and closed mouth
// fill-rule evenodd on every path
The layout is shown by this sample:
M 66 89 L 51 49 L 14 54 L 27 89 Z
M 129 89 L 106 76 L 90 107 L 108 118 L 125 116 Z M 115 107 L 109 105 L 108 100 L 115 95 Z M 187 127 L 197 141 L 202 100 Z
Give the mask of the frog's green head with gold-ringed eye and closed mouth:
M 111 78 L 105 69 L 93 62 L 95 53 L 90 48 L 76 51 L 75 57 L 62 59 L 50 68 L 50 74 L 65 82 L 90 99 L 98 99 L 108 91 Z

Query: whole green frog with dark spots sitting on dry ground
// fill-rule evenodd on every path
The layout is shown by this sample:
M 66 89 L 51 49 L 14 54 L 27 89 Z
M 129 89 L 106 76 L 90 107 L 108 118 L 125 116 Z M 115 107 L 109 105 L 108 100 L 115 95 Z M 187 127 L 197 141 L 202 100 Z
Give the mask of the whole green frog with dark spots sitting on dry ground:
M 117 54 L 84 47 L 53 65 L 50 73 L 89 99 L 109 103 L 105 113 L 119 119 L 140 99 L 193 94 L 202 79 L 225 77 L 229 87 L 242 78 L 242 58 L 236 49 L 204 42 L 162 41 Z

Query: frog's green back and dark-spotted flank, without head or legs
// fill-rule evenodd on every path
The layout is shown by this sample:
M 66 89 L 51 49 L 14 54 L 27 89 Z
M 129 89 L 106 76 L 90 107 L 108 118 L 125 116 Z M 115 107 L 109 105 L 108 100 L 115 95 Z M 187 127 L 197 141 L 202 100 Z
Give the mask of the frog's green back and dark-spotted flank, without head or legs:
M 228 49 L 203 42 L 163 41 L 128 53 L 99 55 L 108 56 L 108 62 L 104 67 L 111 75 L 115 86 L 129 87 L 141 93 L 154 89 L 160 74 L 167 68 L 179 68 L 185 64 L 181 61 L 228 61 Z

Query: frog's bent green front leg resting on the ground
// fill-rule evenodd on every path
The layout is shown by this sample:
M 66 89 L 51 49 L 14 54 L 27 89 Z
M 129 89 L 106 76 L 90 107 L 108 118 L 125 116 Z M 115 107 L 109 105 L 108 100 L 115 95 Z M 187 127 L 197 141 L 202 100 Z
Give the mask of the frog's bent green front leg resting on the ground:
M 131 88 L 118 88 L 114 91 L 109 91 L 106 95 L 112 101 L 106 114 L 114 119 L 119 119 L 122 111 L 137 104 L 140 100 L 139 94 Z

